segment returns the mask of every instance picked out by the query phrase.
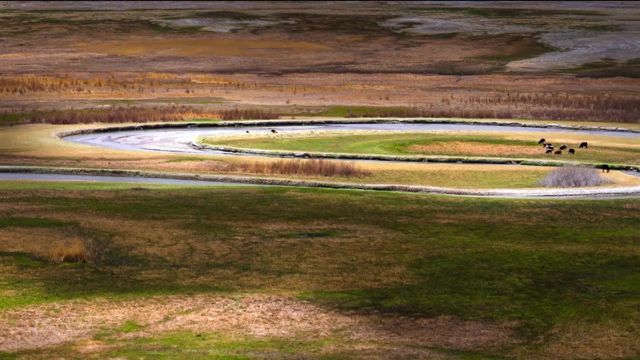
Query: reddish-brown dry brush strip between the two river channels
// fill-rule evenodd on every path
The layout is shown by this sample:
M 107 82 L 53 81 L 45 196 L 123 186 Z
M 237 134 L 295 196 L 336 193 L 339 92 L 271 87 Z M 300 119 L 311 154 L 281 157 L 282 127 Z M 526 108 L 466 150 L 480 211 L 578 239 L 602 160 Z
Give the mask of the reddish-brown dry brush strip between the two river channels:
M 230 172 L 252 172 L 255 174 L 284 174 L 302 176 L 344 176 L 361 177 L 369 176 L 371 172 L 356 167 L 347 161 L 331 161 L 324 159 L 278 160 L 272 163 L 239 163 L 228 167 Z

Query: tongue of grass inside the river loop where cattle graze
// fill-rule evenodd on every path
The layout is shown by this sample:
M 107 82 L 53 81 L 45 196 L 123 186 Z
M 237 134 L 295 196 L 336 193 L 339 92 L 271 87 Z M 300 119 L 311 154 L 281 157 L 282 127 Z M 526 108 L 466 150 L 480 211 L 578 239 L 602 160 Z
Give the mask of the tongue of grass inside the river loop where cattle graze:
M 567 150 L 560 158 L 565 161 L 588 163 L 613 162 L 640 164 L 640 142 L 636 138 L 582 135 L 570 133 L 508 133 L 483 131 L 425 131 L 417 133 L 394 131 L 311 131 L 280 133 L 278 136 L 251 135 L 205 138 L 211 145 L 244 147 L 283 151 L 339 152 L 343 154 L 388 155 L 447 155 L 486 156 L 498 158 L 558 159 L 545 154 L 538 145 L 546 138 L 557 148 L 566 144 L 576 150 L 569 156 Z M 579 149 L 580 142 L 588 142 L 589 149 Z

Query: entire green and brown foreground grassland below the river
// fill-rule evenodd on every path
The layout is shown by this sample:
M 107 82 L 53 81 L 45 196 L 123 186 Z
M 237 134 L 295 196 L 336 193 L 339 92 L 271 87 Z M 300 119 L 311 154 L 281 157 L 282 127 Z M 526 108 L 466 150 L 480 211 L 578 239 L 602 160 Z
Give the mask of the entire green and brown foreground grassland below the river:
M 0 181 L 5 357 L 640 350 L 637 200 L 56 186 Z M 42 261 L 64 236 L 104 261 Z

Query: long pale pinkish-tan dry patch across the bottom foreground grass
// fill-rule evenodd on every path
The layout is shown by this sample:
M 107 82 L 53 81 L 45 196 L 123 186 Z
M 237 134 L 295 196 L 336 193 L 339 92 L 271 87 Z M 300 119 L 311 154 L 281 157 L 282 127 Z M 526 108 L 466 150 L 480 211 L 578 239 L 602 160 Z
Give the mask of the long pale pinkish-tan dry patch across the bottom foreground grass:
M 462 321 L 453 317 L 419 319 L 339 313 L 276 295 L 151 297 L 138 300 L 76 300 L 4 311 L 0 350 L 17 351 L 84 341 L 104 329 L 134 321 L 146 326 L 118 338 L 154 336 L 165 331 L 224 332 L 227 336 L 320 340 L 335 336 L 390 345 L 449 348 L 515 343 L 510 325 Z M 169 320 L 167 320 L 169 319 Z M 89 347 L 89 348 L 87 348 Z

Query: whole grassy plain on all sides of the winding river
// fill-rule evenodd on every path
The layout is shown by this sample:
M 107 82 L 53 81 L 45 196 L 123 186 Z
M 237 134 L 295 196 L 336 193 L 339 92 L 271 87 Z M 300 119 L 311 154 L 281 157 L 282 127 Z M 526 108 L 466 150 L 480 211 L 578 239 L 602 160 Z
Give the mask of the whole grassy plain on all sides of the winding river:
M 366 162 L 355 176 L 323 176 L 306 160 L 141 153 L 53 134 L 246 111 L 640 128 L 636 47 L 625 45 L 640 8 L 629 2 L 132 4 L 0 1 L 0 165 L 527 188 L 552 168 Z M 582 46 L 596 51 L 544 61 Z M 549 136 L 211 141 L 548 159 L 536 144 L 545 137 L 576 148 L 554 160 L 640 164 L 637 140 Z M 635 360 L 639 210 L 638 199 L 0 181 L 0 359 Z

